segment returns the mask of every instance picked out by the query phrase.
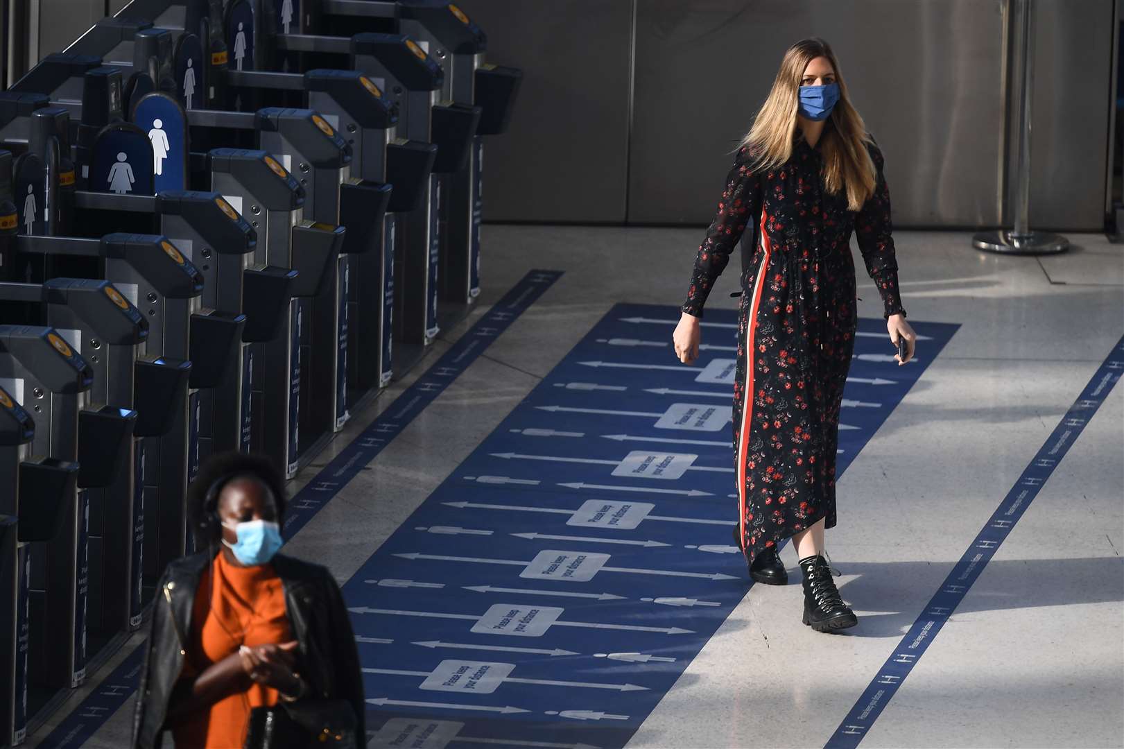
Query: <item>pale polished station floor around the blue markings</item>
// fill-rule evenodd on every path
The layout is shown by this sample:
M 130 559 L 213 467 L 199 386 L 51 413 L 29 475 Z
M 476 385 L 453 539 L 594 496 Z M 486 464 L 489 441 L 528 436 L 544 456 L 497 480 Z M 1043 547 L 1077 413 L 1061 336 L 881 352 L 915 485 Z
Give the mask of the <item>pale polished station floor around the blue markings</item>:
M 351 577 L 611 305 L 677 307 L 700 236 L 486 226 L 480 308 L 354 414 L 317 466 L 527 270 L 565 274 L 287 550 Z M 750 589 L 629 747 L 824 746 L 1124 333 L 1124 247 L 1070 240 L 1070 253 L 1035 259 L 977 252 L 967 233 L 896 233 L 909 317 L 961 327 L 840 480 L 826 543 L 860 624 L 831 637 L 800 623 L 786 548 L 791 584 Z M 860 314 L 879 316 L 858 252 L 855 262 Z M 733 307 L 736 263 L 714 305 Z M 1124 746 L 1122 445 L 1116 387 L 861 746 Z M 130 719 L 132 703 L 85 746 L 126 746 Z

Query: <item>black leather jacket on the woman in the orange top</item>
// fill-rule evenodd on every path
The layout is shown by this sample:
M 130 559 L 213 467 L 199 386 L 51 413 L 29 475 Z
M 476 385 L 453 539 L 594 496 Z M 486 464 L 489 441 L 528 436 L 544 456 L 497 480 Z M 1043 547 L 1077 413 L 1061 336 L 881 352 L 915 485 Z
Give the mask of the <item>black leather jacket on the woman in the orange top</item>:
M 176 559 L 160 580 L 133 722 L 135 749 L 161 746 L 167 701 L 183 668 L 196 589 L 210 560 L 206 551 Z M 339 586 L 320 565 L 283 554 L 274 556 L 272 565 L 284 589 L 285 615 L 299 642 L 297 670 L 310 687 L 309 698 L 348 701 L 357 720 L 356 749 L 362 749 L 363 676 Z

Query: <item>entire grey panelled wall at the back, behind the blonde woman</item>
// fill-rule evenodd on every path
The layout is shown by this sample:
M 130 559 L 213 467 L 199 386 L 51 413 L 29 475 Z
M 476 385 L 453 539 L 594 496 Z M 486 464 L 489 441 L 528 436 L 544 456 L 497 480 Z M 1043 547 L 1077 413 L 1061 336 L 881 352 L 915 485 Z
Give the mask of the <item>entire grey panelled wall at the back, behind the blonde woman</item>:
M 834 47 L 899 226 L 1009 224 L 1006 0 L 462 0 L 523 67 L 488 143 L 489 220 L 705 224 L 729 152 L 805 36 Z M 1114 0 L 1036 0 L 1031 219 L 1100 231 Z M 1017 99 L 1015 100 L 1017 103 Z

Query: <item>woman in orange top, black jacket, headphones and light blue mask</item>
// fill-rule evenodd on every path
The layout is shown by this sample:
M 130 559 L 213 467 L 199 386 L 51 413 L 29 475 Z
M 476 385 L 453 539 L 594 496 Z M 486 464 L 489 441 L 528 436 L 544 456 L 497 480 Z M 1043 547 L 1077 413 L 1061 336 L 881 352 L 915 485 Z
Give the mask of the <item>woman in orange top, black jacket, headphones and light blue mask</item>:
M 363 684 L 335 579 L 278 554 L 284 489 L 263 458 L 212 457 L 188 490 L 196 543 L 169 565 L 153 613 L 135 747 L 238 749 L 251 710 L 343 700 L 362 746 Z M 338 745 L 336 745 L 338 746 Z

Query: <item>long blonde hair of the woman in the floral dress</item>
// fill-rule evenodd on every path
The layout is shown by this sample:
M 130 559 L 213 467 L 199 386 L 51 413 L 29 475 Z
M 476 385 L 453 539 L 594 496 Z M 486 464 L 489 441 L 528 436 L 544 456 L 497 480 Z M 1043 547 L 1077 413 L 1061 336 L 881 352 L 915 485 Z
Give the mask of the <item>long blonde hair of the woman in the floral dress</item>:
M 877 172 L 867 151 L 867 144 L 873 141 L 851 105 L 839 61 L 824 39 L 815 36 L 800 39 L 785 52 L 772 90 L 754 115 L 753 126 L 740 146 L 749 146 L 755 171 L 777 169 L 789 160 L 796 135 L 800 80 L 808 63 L 816 57 L 831 61 L 840 87 L 840 99 L 830 116 L 832 127 L 824 128 L 817 143 L 824 162 L 824 190 L 830 195 L 845 190 L 847 208 L 859 210 L 874 191 Z

